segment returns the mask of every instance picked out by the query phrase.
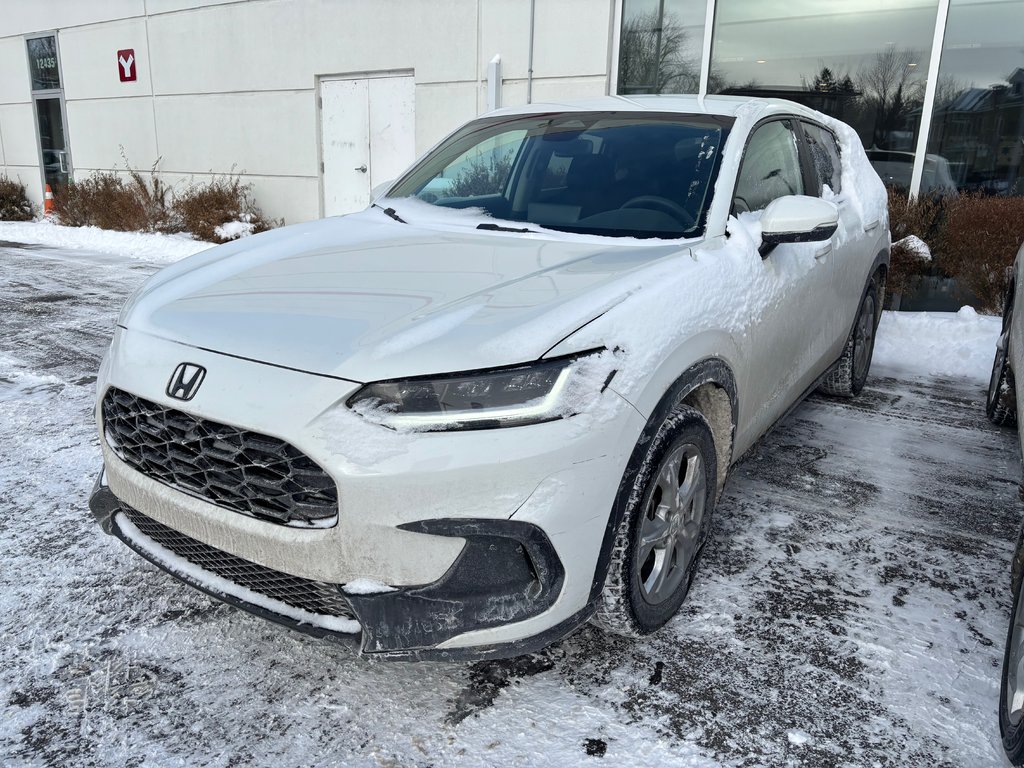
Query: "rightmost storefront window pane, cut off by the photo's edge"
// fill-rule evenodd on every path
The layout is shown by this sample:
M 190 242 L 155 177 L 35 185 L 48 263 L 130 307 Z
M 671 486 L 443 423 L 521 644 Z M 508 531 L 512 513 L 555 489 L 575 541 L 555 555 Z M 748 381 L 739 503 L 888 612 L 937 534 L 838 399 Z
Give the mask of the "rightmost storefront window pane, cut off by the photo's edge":
M 1024 1 L 952 0 L 921 190 L 1024 195 Z

